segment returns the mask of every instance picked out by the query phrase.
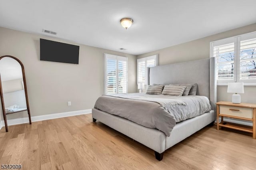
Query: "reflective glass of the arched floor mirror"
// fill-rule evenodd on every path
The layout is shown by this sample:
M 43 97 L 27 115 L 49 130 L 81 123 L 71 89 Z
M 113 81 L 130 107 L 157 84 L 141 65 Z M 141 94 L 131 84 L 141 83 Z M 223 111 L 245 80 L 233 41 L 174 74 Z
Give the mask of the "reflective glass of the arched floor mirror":
M 20 63 L 13 58 L 0 60 L 0 75 L 6 114 L 26 110 L 26 97 Z

